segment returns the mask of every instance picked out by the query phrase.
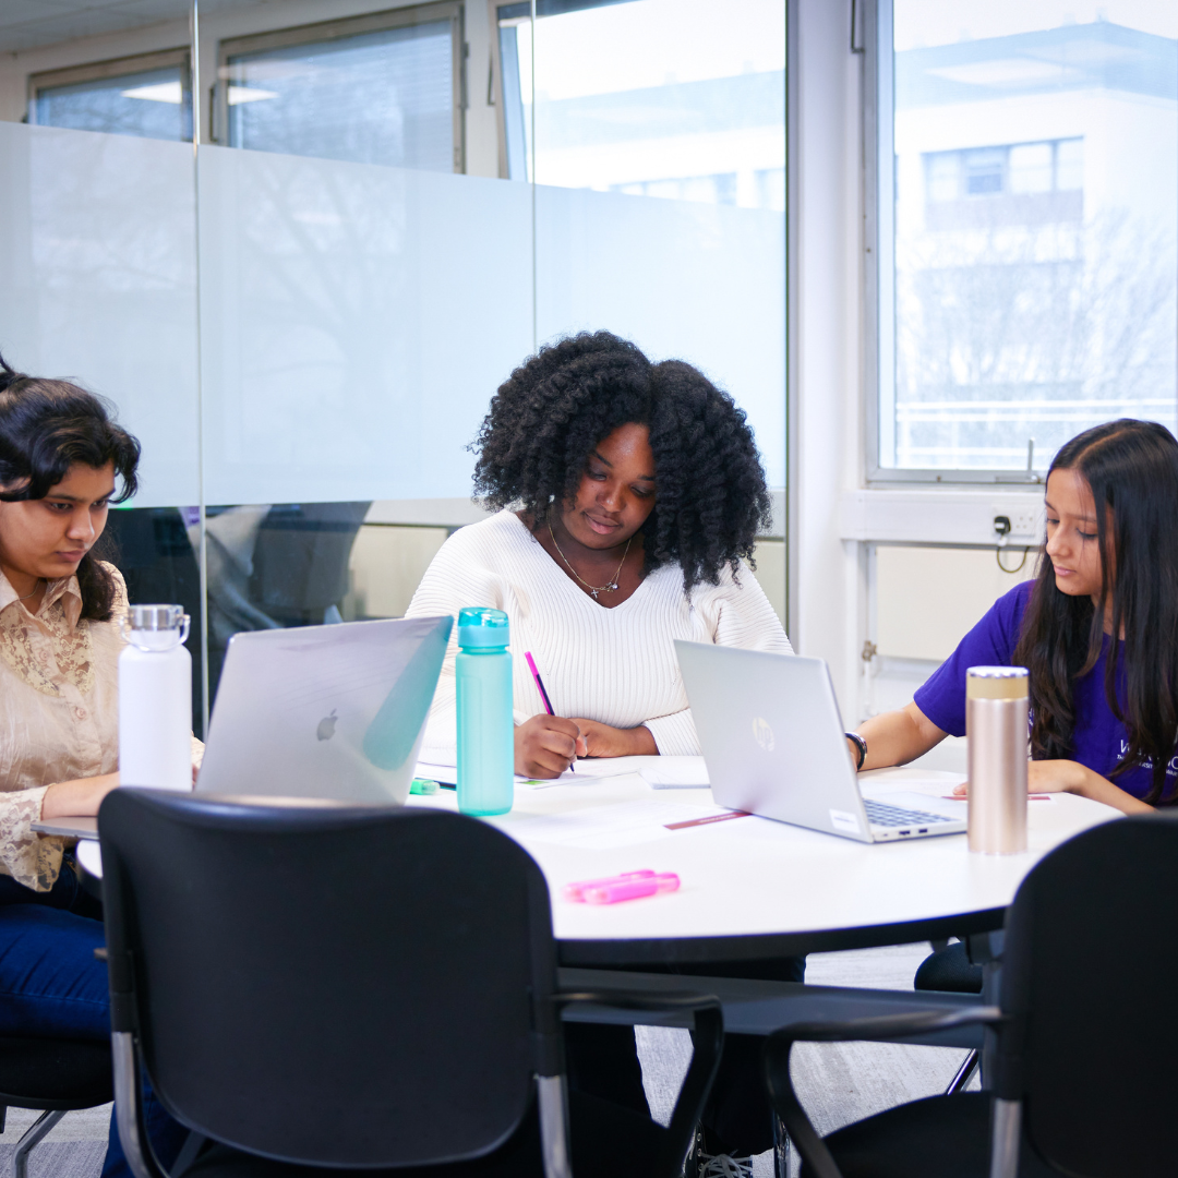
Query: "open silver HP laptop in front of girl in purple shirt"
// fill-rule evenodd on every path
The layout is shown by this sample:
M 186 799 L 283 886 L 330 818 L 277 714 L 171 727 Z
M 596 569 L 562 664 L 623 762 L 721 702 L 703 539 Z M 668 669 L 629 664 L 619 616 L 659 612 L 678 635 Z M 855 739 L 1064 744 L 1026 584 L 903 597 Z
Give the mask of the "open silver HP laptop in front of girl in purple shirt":
M 697 642 L 675 649 L 721 806 L 860 842 L 965 832 L 964 802 L 862 796 L 821 659 Z

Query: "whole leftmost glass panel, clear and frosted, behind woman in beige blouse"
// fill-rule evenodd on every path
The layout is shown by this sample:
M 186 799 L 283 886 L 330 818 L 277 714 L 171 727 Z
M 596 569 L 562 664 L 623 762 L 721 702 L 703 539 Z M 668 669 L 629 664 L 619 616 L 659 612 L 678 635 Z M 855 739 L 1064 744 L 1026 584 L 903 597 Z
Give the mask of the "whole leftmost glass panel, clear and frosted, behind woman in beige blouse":
M 110 512 L 99 552 L 132 602 L 191 615 L 199 735 L 191 5 L 158 0 L 113 19 L 93 6 L 24 8 L 0 27 L 0 349 L 24 371 L 106 397 L 139 438 L 139 494 Z M 55 74 L 31 78 L 38 62 Z

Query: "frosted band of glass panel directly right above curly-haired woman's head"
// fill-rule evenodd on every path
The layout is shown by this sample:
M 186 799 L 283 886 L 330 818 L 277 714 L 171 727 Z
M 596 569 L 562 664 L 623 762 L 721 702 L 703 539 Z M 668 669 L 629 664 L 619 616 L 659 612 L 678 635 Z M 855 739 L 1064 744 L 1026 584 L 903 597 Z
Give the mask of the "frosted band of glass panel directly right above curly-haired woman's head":
M 772 210 L 537 186 L 540 338 L 607 327 L 702 369 L 748 412 L 781 487 L 785 250 Z

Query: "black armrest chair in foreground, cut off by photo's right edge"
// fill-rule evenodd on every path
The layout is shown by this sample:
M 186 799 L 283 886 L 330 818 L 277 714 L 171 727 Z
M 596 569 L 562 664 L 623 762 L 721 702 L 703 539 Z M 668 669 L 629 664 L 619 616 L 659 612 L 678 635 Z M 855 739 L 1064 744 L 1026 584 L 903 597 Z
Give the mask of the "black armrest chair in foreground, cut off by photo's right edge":
M 766 1079 L 802 1174 L 1173 1174 L 1174 862 L 1178 819 L 1165 814 L 1104 823 L 1047 855 L 1007 913 L 1000 1007 L 798 1024 L 770 1035 Z M 916 1100 L 825 1139 L 798 1101 L 794 1043 L 902 1040 L 979 1021 L 994 1035 L 992 1091 Z

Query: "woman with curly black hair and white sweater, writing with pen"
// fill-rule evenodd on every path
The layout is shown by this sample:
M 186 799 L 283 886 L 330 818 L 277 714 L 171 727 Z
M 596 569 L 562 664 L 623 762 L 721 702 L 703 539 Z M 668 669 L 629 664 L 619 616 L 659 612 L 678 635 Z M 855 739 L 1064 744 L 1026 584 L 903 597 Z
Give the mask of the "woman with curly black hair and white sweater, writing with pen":
M 497 514 L 445 542 L 409 614 L 507 611 L 516 772 L 556 777 L 584 756 L 699 754 L 675 640 L 793 653 L 744 564 L 769 523 L 769 495 L 743 411 L 691 365 L 654 364 L 597 331 L 517 368 L 474 449 L 476 495 Z M 442 763 L 456 744 L 455 653 L 451 644 L 422 753 Z M 800 981 L 803 961 L 730 972 Z M 568 1045 L 574 1087 L 647 1111 L 629 1028 L 570 1027 Z M 706 1152 L 772 1145 L 757 1058 L 759 1040 L 728 1037 Z

